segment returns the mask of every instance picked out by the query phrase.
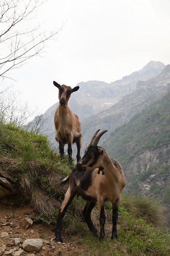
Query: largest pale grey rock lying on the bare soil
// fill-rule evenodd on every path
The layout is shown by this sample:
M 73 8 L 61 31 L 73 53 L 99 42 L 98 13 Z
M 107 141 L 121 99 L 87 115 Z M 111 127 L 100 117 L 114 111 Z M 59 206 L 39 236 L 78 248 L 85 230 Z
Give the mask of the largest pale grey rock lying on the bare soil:
M 22 244 L 22 248 L 27 252 L 39 251 L 43 243 L 41 239 L 26 239 Z

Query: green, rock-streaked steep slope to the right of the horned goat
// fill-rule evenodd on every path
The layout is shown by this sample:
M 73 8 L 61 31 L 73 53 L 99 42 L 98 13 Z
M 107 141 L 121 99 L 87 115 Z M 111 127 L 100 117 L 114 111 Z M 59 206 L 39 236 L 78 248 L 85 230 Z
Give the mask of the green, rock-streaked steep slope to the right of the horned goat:
M 115 129 L 104 148 L 121 163 L 126 190 L 159 194 L 170 204 L 170 92 Z

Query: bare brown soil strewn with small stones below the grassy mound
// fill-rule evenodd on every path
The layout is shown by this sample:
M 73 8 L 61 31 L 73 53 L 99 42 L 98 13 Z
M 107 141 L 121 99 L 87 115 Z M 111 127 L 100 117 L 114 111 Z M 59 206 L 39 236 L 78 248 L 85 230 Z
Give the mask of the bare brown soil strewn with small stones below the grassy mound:
M 2 226 L 0 223 L 1 232 L 7 232 L 9 236 L 0 236 L 0 246 L 6 245 L 6 251 L 14 249 L 15 251 L 22 249 L 22 243 L 25 239 L 38 238 L 42 239 L 43 246 L 38 252 L 29 252 L 25 255 L 35 254 L 35 256 L 71 256 L 71 255 L 86 255 L 89 248 L 80 245 L 77 236 L 71 238 L 71 242 L 66 241 L 67 232 L 62 234 L 64 243 L 55 243 L 54 239 L 54 225 L 33 222 L 29 229 L 20 227 L 20 219 L 24 217 L 38 217 L 37 213 L 31 206 L 27 204 L 24 206 L 15 206 L 10 202 L 10 199 L 0 199 L 0 219 L 6 219 L 7 226 Z M 18 237 L 22 239 L 19 246 L 16 246 L 13 238 Z

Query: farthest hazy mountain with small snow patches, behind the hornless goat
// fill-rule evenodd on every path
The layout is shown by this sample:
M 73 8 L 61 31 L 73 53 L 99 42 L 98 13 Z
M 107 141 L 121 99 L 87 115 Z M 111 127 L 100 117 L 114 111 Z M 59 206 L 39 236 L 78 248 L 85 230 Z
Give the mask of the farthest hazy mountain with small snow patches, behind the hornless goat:
M 150 61 L 143 69 L 135 71 L 131 75 L 125 76 L 121 80 L 111 82 L 110 84 L 101 81 L 80 82 L 78 84 L 80 89 L 71 95 L 68 105 L 71 107 L 73 113 L 78 114 L 81 122 L 83 135 L 82 152 L 84 151 L 85 143 L 89 142 L 94 131 L 99 128 L 102 129 L 102 127 L 113 131 L 117 125 L 121 125 L 122 122 L 125 121 L 122 120 L 121 122 L 118 118 L 118 116 L 121 115 L 119 112 L 124 111 L 122 109 L 122 100 L 128 101 L 128 98 L 124 99 L 124 97 L 128 95 L 130 97 L 130 95 L 136 91 L 137 86 L 142 83 L 139 82 L 139 80 L 147 81 L 152 79 L 159 75 L 164 68 L 165 65 L 163 63 Z M 51 86 L 53 86 L 52 83 Z M 139 91 L 140 90 L 138 90 L 138 92 Z M 130 99 L 130 101 L 130 104 L 133 104 L 133 99 Z M 30 129 L 31 127 L 36 127 L 36 130 L 48 135 L 49 140 L 55 146 L 58 146 L 58 144 L 55 141 L 53 117 L 57 106 L 58 103 L 51 106 L 42 116 L 36 117 L 30 125 Z M 115 116 L 112 115 L 114 112 Z M 109 115 L 111 116 L 109 117 Z M 113 120 L 115 118 L 119 119 L 119 122 L 115 126 L 113 125 L 115 120 L 112 121 L 112 118 Z M 106 119 L 108 120 L 106 121 Z M 37 120 L 38 125 L 36 124 Z M 90 124 L 91 121 L 93 121 L 93 125 Z M 106 121 L 106 125 L 104 123 L 102 124 L 102 121 Z M 87 125 L 88 127 L 86 128 Z

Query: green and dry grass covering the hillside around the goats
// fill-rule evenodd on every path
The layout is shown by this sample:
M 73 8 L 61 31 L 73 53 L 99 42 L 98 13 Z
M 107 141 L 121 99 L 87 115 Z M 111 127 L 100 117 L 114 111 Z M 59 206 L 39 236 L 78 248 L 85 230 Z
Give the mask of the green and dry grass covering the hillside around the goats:
M 59 181 L 71 171 L 67 157 L 60 161 L 58 152 L 49 147 L 46 137 L 1 122 L 0 167 L 11 177 L 13 204 L 22 206 L 31 202 L 36 211 L 35 222 L 55 224 L 67 189 L 67 185 L 60 187 Z M 117 241 L 110 240 L 112 206 L 106 204 L 106 239 L 103 243 L 91 236 L 84 223 L 81 215 L 84 205 L 84 200 L 75 198 L 63 220 L 64 240 L 71 241 L 77 236 L 77 243 L 86 248 L 84 254 L 73 255 L 170 256 L 170 233 L 160 227 L 167 226 L 166 208 L 155 198 L 122 195 Z M 92 211 L 92 219 L 99 230 L 97 207 Z

